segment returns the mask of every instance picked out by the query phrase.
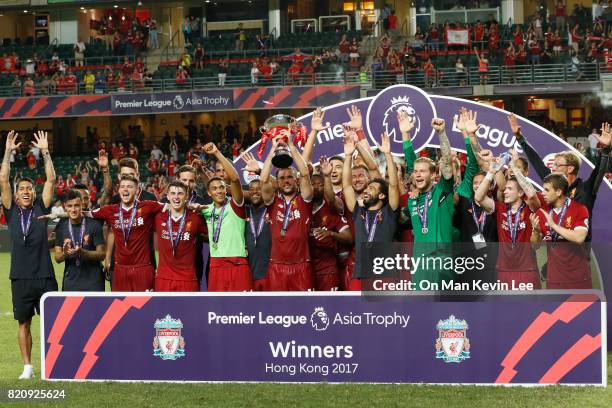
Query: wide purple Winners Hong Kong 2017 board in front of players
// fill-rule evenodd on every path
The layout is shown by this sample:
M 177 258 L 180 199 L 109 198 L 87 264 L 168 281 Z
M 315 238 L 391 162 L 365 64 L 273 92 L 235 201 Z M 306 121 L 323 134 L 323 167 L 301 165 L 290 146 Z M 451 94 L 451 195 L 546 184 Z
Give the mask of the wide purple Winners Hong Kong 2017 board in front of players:
M 52 293 L 41 302 L 42 372 L 52 380 L 605 385 L 595 293 L 472 302 Z

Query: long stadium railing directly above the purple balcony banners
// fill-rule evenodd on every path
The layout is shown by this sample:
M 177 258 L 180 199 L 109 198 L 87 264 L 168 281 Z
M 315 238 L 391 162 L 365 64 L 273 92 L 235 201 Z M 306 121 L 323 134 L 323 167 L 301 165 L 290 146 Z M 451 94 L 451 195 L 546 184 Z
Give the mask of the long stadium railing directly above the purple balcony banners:
M 323 72 L 316 74 L 277 73 L 271 77 L 259 76 L 253 82 L 251 75 L 231 75 L 225 79 L 225 88 L 259 87 L 259 86 L 315 86 L 315 85 L 361 85 L 364 88 L 383 89 L 393 84 L 411 84 L 421 88 L 471 86 L 479 84 L 531 84 L 531 83 L 562 83 L 576 81 L 598 81 L 612 73 L 612 68 L 604 64 L 549 64 L 549 65 L 516 65 L 489 66 L 486 73 L 478 71 L 477 67 L 440 68 L 433 75 L 425 75 L 423 71 L 374 71 L 363 74 L 360 72 Z M 221 88 L 218 76 L 189 78 L 177 82 L 174 78 L 154 79 L 148 81 L 126 81 L 120 86 L 117 83 L 98 83 L 87 86 L 80 82 L 73 87 L 49 86 L 35 84 L 35 95 L 26 95 L 23 86 L 0 87 L 0 97 L 37 96 L 37 95 L 78 95 L 104 93 L 138 93 L 165 92 L 178 90 L 201 90 Z

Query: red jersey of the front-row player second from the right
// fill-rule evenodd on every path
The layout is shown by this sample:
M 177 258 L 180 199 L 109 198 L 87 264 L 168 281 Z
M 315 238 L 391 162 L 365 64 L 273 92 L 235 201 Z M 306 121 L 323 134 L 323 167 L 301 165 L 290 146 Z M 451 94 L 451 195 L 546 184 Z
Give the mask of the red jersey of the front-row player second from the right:
M 528 272 L 537 271 L 535 252 L 531 248 L 531 221 L 532 214 L 529 206 L 525 204 L 521 211 L 516 233 L 516 245 L 512 247 L 512 237 L 507 220 L 508 206 L 502 202 L 495 202 L 495 220 L 497 222 L 497 234 L 499 236 L 499 256 L 497 258 L 497 270 L 500 272 Z M 516 214 L 512 214 L 514 223 Z

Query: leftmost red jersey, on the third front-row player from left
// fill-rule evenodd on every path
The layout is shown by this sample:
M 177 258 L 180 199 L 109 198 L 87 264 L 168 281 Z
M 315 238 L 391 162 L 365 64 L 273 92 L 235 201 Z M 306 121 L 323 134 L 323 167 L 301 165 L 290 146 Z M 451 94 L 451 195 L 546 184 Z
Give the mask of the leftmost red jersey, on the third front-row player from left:
M 91 212 L 94 218 L 108 222 L 115 236 L 115 263 L 122 266 L 149 265 L 151 263 L 150 234 L 153 232 L 155 215 L 164 205 L 157 201 L 139 201 L 132 230 L 125 244 L 123 231 L 119 224 L 119 206 L 121 204 L 105 205 Z M 129 211 L 123 211 L 123 225 L 127 231 L 130 222 Z

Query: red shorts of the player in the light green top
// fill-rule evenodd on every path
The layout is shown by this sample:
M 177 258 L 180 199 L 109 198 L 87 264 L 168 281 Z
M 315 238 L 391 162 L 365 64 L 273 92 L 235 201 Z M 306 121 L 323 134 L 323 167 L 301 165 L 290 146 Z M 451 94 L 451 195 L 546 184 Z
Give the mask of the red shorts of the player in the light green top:
M 246 258 L 210 258 L 209 292 L 248 292 L 253 277 Z

